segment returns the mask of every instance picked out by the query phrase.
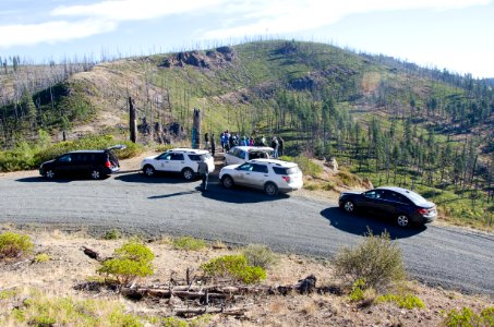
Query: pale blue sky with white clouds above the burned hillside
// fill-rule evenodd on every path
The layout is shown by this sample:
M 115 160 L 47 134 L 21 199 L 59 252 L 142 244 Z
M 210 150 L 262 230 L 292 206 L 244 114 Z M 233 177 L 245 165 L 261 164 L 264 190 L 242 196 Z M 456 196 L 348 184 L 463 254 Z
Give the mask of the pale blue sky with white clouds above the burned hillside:
M 145 56 L 297 39 L 494 77 L 494 0 L 0 0 L 0 59 Z

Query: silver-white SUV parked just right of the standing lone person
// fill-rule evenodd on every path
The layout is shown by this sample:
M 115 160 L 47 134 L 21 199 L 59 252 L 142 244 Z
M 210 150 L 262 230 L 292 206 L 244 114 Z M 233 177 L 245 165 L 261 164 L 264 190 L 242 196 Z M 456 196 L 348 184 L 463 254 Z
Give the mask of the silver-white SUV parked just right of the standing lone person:
M 303 185 L 302 171 L 297 164 L 276 159 L 253 159 L 224 167 L 219 180 L 226 189 L 243 185 L 264 190 L 267 195 L 299 190 Z

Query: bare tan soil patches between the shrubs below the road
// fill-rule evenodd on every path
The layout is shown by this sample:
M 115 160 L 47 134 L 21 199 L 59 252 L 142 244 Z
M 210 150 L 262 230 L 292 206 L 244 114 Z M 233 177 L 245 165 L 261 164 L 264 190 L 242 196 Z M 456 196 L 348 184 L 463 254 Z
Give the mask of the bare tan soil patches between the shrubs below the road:
M 4 226 L 1 232 L 8 230 Z M 184 307 L 178 298 L 159 301 L 130 301 L 116 292 L 76 291 L 74 286 L 95 277 L 99 263 L 84 255 L 82 246 L 91 247 L 103 257 L 110 256 L 122 240 L 96 240 L 81 232 L 64 234 L 58 230 L 28 231 L 35 242 L 35 253 L 47 253 L 49 262 L 34 263 L 31 258 L 17 263 L 0 263 L 0 291 L 9 288 L 35 288 L 58 296 L 75 299 L 108 299 L 121 301 L 129 312 L 134 314 L 173 315 L 173 307 Z M 165 241 L 164 241 L 165 240 Z M 155 275 L 138 282 L 140 286 L 168 284 L 170 277 L 184 279 L 185 270 L 200 274 L 198 266 L 212 257 L 234 254 L 234 249 L 206 249 L 203 251 L 174 250 L 166 239 L 147 244 L 156 254 Z M 267 270 L 263 284 L 294 284 L 309 275 L 317 277 L 317 287 L 340 284 L 335 279 L 328 262 L 315 261 L 299 255 L 282 255 L 278 263 Z M 427 288 L 419 282 L 408 282 L 408 292 L 419 296 L 425 308 L 399 308 L 391 303 L 372 304 L 362 307 L 361 303 L 349 301 L 348 295 L 298 294 L 288 295 L 245 295 L 238 299 L 236 307 L 243 307 L 244 315 L 227 316 L 215 314 L 208 326 L 438 326 L 444 312 L 465 306 L 474 312 L 493 306 L 487 296 L 465 295 L 454 291 Z M 0 316 L 9 314 L 19 299 L 0 298 Z

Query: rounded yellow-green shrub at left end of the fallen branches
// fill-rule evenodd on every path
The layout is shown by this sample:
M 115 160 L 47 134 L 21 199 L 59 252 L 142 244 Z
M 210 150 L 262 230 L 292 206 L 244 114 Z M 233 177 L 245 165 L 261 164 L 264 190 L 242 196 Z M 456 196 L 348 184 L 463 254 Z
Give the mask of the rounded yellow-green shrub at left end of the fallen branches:
M 125 284 L 137 277 L 153 275 L 154 257 L 154 253 L 146 245 L 130 241 L 115 251 L 113 258 L 101 263 L 97 271 Z

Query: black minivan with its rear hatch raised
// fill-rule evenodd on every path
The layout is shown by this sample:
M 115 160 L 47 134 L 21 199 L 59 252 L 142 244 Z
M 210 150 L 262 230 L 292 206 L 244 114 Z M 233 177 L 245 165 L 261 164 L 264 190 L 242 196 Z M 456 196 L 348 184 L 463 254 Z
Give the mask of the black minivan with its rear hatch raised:
M 120 162 L 111 149 L 122 149 L 116 145 L 104 150 L 76 150 L 63 154 L 53 160 L 43 162 L 39 173 L 47 179 L 56 177 L 88 175 L 99 180 L 120 170 Z

